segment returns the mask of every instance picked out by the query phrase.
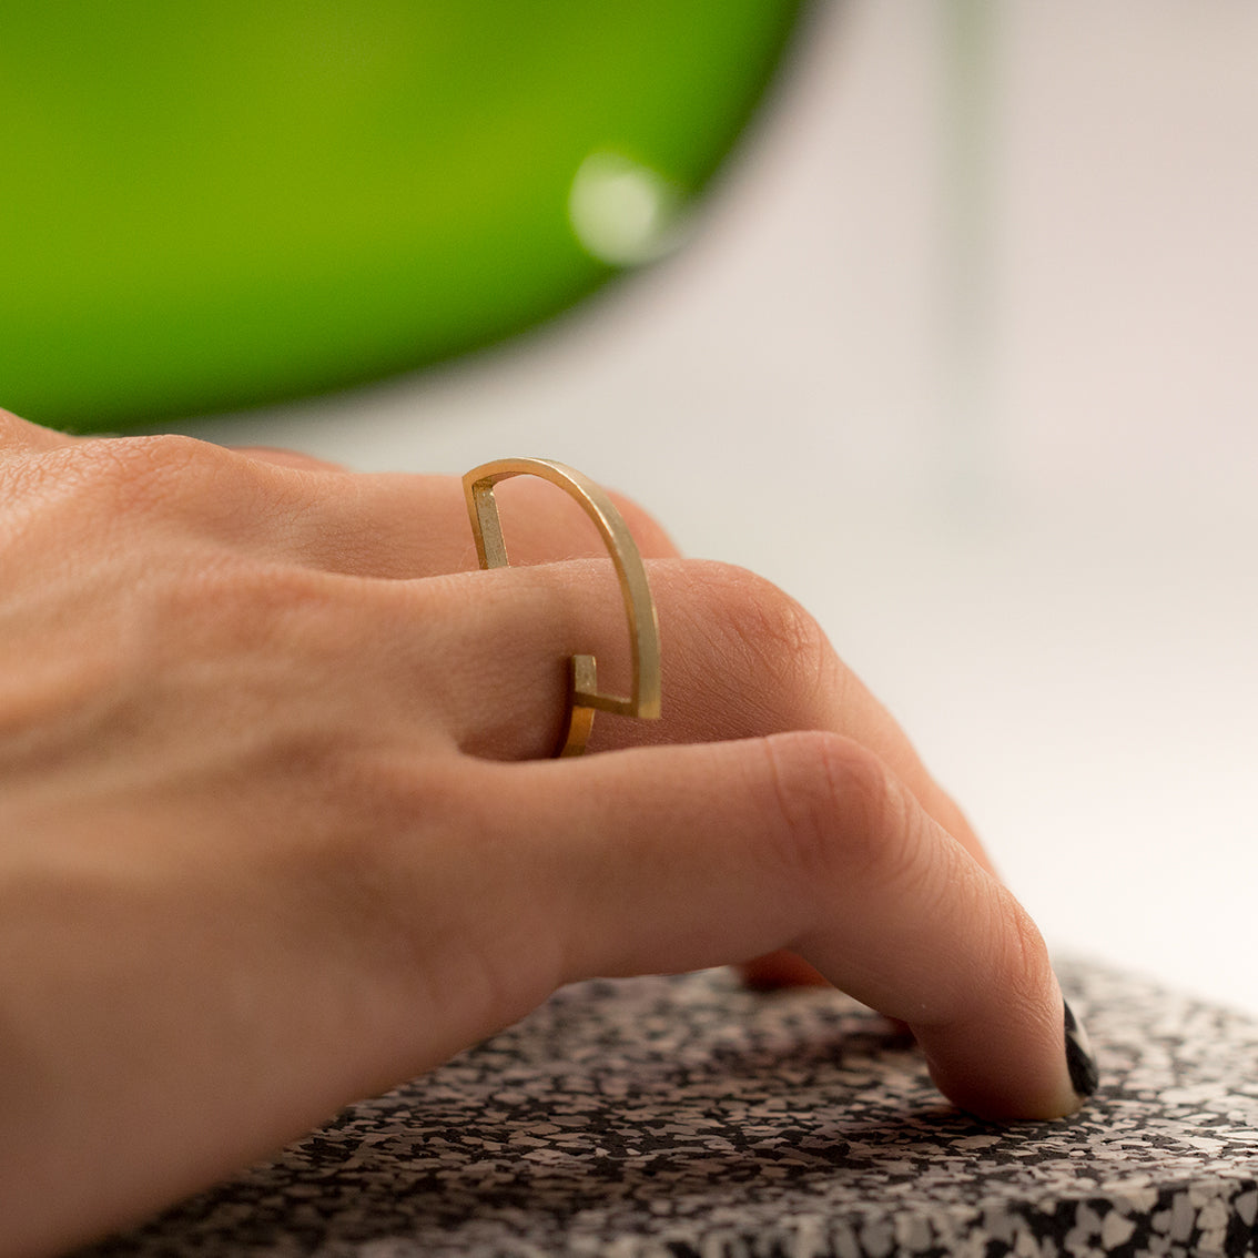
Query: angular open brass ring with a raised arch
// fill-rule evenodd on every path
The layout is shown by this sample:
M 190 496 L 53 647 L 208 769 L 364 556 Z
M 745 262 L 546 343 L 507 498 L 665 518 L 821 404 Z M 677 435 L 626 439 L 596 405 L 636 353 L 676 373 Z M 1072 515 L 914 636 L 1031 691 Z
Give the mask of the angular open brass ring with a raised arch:
M 497 459 L 473 468 L 463 477 L 472 532 L 481 567 L 507 567 L 507 547 L 502 540 L 498 506 L 493 487 L 513 476 L 536 476 L 557 486 L 581 504 L 594 521 L 615 564 L 620 593 L 629 618 L 629 654 L 633 663 L 633 693 L 629 698 L 599 691 L 593 655 L 572 655 L 567 704 L 567 731 L 556 755 L 579 756 L 585 751 L 594 725 L 594 713 L 615 712 L 653 721 L 659 717 L 659 621 L 655 600 L 647 584 L 642 555 L 620 512 L 606 491 L 589 477 L 550 459 Z

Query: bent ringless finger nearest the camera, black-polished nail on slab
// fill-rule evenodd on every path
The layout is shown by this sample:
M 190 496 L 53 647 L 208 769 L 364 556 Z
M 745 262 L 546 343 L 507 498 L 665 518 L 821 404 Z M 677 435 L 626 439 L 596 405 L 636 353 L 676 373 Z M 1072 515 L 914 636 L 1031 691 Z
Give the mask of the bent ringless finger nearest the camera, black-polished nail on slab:
M 562 980 L 785 946 L 906 1021 L 962 1108 L 1050 1118 L 1094 1087 L 1078 1069 L 1072 1082 L 1062 995 L 1027 913 L 850 740 L 483 767 L 465 801 L 496 863 L 497 892 L 482 891 L 527 888 L 537 951 L 561 959 Z M 518 960 L 498 964 L 511 990 Z

